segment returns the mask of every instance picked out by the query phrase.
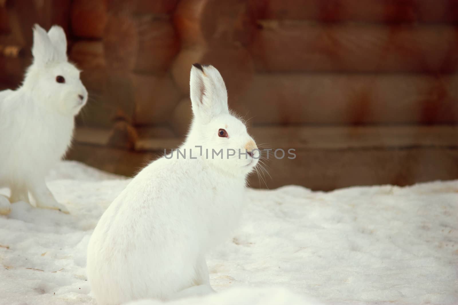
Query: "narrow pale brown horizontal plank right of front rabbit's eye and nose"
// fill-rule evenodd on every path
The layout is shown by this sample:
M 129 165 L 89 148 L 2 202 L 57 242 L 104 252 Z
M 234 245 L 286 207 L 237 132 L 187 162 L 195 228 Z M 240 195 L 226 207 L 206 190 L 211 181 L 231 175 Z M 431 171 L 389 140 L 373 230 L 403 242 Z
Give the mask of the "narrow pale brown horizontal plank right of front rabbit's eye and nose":
M 262 126 L 250 128 L 256 143 L 274 149 L 343 150 L 443 147 L 458 149 L 458 126 Z

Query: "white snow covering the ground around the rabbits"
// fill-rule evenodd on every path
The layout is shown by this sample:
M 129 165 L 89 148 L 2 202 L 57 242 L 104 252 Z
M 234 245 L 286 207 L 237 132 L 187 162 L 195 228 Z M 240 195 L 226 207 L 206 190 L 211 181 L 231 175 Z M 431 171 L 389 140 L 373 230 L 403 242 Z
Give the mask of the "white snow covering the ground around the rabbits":
M 87 243 L 128 182 L 64 161 L 48 186 L 71 214 L 19 202 L 0 216 L 0 304 L 95 304 Z M 248 196 L 207 258 L 218 293 L 170 304 L 458 304 L 458 181 Z

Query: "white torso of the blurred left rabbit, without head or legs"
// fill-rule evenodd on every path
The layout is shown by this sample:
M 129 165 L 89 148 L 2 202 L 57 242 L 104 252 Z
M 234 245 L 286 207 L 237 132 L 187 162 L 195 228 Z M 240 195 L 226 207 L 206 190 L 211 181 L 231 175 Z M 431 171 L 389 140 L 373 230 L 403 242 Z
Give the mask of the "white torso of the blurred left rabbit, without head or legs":
M 71 144 L 73 127 L 73 120 L 41 107 L 27 91 L 11 91 L 0 100 L 0 130 L 8 130 L 0 133 L 0 182 L 44 177 Z

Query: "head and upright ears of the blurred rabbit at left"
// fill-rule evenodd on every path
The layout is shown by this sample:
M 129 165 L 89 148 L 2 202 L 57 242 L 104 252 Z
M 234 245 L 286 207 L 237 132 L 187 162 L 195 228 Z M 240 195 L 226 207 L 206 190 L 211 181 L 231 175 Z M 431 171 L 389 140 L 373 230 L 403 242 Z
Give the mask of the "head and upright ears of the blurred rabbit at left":
M 33 64 L 28 68 L 22 87 L 44 107 L 62 115 L 75 116 L 87 102 L 87 90 L 80 80 L 80 70 L 67 60 L 67 40 L 62 27 L 46 32 L 33 28 Z

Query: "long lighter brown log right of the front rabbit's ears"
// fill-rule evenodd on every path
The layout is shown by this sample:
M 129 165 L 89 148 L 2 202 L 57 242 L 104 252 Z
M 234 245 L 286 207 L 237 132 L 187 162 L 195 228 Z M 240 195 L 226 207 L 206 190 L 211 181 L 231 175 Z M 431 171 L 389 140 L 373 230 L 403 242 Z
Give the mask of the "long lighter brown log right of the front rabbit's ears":
M 254 123 L 456 123 L 457 75 L 256 75 Z

